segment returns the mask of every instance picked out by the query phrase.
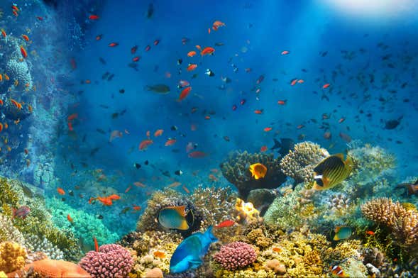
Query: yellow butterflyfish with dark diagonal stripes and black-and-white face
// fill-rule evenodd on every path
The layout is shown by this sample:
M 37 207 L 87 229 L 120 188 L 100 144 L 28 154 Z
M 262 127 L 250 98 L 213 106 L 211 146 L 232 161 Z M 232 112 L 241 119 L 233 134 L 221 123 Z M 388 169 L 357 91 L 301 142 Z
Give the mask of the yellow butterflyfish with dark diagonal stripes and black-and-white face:
M 335 187 L 350 175 L 352 169 L 353 160 L 349 156 L 346 161 L 342 153 L 326 157 L 314 167 L 314 189 Z

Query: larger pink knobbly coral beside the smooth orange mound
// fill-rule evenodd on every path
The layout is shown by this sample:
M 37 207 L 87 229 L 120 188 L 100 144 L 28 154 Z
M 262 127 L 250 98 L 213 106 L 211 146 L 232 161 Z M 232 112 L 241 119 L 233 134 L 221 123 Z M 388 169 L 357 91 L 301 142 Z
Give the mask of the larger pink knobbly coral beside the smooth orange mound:
M 89 251 L 79 266 L 95 277 L 126 277 L 133 266 L 131 254 L 117 244 L 106 244 L 99 252 Z

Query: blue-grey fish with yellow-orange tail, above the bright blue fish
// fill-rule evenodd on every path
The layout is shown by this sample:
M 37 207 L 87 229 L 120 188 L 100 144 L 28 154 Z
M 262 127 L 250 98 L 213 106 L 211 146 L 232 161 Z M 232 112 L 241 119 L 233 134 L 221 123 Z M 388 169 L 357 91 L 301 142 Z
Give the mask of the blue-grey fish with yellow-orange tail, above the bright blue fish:
M 158 223 L 164 228 L 188 230 L 186 206 L 167 206 L 158 213 Z

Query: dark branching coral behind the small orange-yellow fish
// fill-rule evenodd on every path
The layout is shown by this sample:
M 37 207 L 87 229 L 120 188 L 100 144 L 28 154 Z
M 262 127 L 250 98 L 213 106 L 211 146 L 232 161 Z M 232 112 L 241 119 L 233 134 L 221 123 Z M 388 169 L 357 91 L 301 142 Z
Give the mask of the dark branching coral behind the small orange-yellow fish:
M 263 179 L 251 177 L 249 166 L 261 163 L 267 167 L 267 174 Z M 224 177 L 237 189 L 239 196 L 246 200 L 248 193 L 253 189 L 274 189 L 285 182 L 285 174 L 280 169 L 280 159 L 274 158 L 273 153 L 233 152 L 221 163 L 221 171 Z

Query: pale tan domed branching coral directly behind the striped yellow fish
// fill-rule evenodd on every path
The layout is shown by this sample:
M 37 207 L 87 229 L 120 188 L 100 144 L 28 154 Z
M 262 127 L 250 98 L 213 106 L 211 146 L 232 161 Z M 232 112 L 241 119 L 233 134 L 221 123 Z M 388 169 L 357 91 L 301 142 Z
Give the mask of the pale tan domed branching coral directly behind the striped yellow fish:
M 318 144 L 306 141 L 296 144 L 295 149 L 290 150 L 282 158 L 280 167 L 287 176 L 295 179 L 295 184 L 300 182 L 308 184 L 314 181 L 314 167 L 328 156 L 327 150 Z

